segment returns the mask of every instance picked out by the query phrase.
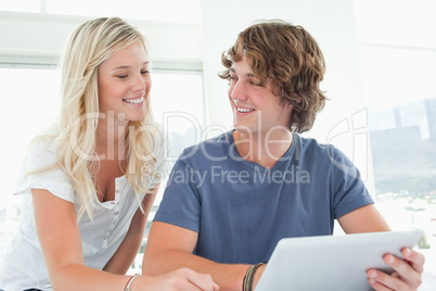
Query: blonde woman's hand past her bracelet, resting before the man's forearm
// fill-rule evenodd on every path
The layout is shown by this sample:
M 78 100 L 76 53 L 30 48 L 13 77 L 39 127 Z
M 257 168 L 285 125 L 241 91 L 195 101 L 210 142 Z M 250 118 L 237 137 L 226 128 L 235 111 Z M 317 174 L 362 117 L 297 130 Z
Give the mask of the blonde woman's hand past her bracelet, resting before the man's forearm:
M 189 268 L 180 268 L 161 276 L 142 276 L 134 280 L 131 290 L 148 291 L 218 291 L 210 275 L 198 274 Z

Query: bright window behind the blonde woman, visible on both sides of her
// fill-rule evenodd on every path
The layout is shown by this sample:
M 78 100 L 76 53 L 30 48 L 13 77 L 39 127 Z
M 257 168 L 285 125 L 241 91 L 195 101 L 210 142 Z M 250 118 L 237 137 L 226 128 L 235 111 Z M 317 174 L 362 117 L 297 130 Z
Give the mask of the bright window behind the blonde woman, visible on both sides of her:
M 10 125 L 2 127 L 3 137 L 13 140 L 13 142 L 2 142 L 0 146 L 0 160 L 3 161 L 3 165 L 8 165 L 8 167 L 0 167 L 0 177 L 3 181 L 0 193 L 0 256 L 15 232 L 21 216 L 21 197 L 12 195 L 20 162 L 31 138 L 50 124 L 51 119 L 56 118 L 60 109 L 60 75 L 59 69 L 43 66 L 0 68 L 0 78 L 3 80 L 0 94 L 9 97 L 2 101 L 4 107 L 15 109 L 18 103 L 25 104 L 20 106 L 21 117 L 16 115 L 16 111 L 12 110 L 0 114 L 0 123 Z M 202 75 L 200 72 L 171 72 L 156 68 L 150 75 L 153 79 L 151 99 L 154 115 L 162 125 L 165 125 L 168 137 L 174 141 L 168 159 L 175 160 L 182 149 L 195 142 L 197 138 L 195 128 L 204 126 Z M 31 94 L 17 90 L 22 88 L 23 80 L 26 80 L 26 87 L 33 88 Z M 181 111 L 184 114 L 178 113 Z M 31 123 L 27 122 L 29 119 Z M 158 205 L 159 201 L 161 197 L 157 197 L 155 205 Z M 148 229 L 155 208 L 150 214 Z M 144 243 L 146 236 L 148 231 L 144 233 Z M 142 253 L 143 249 L 128 274 L 141 270 Z

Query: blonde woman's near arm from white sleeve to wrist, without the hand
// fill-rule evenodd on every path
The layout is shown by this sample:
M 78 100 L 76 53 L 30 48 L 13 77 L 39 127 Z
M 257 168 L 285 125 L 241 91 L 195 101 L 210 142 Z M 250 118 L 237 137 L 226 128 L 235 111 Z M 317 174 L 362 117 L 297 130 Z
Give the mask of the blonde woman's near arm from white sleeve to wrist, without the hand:
M 31 190 L 35 223 L 54 290 L 123 290 L 128 277 L 87 267 L 74 204 Z

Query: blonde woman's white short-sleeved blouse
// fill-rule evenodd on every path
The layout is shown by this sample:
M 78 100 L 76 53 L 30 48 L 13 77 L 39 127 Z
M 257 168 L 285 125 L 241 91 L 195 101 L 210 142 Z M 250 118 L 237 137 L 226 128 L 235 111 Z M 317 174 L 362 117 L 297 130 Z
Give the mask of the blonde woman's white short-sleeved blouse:
M 155 147 L 158 150 L 155 169 L 163 174 L 165 163 L 162 152 L 164 151 L 158 148 L 161 147 Z M 55 154 L 52 144 L 47 141 L 38 141 L 30 147 L 22 166 L 14 194 L 23 194 L 23 213 L 20 227 L 7 248 L 3 262 L 0 262 L 0 289 L 5 291 L 21 291 L 27 288 L 52 290 L 36 232 L 30 190 L 46 189 L 54 195 L 74 203 L 76 213 L 80 208 L 81 202 L 78 201 L 68 176 L 62 169 L 27 177 L 25 177 L 25 172 L 52 164 L 54 161 Z M 159 182 L 150 177 L 146 178 L 150 188 Z M 143 197 L 142 193 L 141 200 Z M 84 258 L 87 266 L 103 269 L 125 238 L 138 207 L 133 187 L 125 176 L 115 179 L 115 200 L 101 203 L 94 195 L 93 220 L 87 213 L 79 219 Z

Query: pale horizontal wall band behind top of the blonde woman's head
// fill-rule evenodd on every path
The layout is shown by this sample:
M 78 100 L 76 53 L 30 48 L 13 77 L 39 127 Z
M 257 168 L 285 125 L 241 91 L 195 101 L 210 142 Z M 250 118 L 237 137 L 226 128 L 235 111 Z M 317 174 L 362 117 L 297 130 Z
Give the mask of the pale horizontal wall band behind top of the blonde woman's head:
M 69 35 L 89 18 L 0 12 L 0 63 L 57 64 Z M 148 39 L 155 66 L 202 69 L 200 25 L 126 21 Z

